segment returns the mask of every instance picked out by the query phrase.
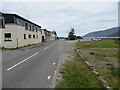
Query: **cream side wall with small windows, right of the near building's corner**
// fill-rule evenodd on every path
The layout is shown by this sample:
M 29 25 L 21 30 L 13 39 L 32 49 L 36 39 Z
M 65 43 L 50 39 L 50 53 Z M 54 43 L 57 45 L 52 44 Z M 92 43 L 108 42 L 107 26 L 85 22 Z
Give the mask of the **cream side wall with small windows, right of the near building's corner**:
M 26 39 L 24 39 L 24 34 L 26 34 Z M 31 38 L 28 37 L 29 34 L 31 34 Z M 38 32 L 28 31 L 25 30 L 25 28 L 22 26 L 17 26 L 17 35 L 18 35 L 18 45 L 19 45 L 18 47 L 42 42 L 42 35 L 40 31 Z M 35 38 L 33 38 L 33 35 L 35 35 Z

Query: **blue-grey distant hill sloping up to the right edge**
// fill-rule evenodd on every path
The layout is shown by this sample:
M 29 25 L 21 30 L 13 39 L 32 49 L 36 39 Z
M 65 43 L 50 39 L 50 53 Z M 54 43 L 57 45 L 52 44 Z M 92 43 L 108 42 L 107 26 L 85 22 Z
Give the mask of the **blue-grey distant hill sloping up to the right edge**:
M 114 27 L 106 30 L 91 32 L 83 36 L 87 37 L 118 37 L 120 36 L 120 27 Z

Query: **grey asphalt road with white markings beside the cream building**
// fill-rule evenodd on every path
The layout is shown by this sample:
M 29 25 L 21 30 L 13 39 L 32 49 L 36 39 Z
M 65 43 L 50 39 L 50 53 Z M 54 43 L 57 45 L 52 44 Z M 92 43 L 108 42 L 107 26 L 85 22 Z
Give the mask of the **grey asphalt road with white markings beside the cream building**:
M 50 88 L 63 40 L 4 51 L 3 88 Z

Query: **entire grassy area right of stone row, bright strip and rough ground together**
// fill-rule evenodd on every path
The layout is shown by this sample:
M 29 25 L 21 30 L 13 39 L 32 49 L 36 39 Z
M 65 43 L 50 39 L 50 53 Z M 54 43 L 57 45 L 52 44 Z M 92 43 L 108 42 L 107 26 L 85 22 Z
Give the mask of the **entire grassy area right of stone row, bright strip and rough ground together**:
M 91 45 L 86 45 L 87 41 L 76 43 L 87 61 L 94 65 L 96 70 L 113 88 L 120 86 L 118 77 L 120 76 L 118 59 L 118 46 L 114 40 L 90 41 Z

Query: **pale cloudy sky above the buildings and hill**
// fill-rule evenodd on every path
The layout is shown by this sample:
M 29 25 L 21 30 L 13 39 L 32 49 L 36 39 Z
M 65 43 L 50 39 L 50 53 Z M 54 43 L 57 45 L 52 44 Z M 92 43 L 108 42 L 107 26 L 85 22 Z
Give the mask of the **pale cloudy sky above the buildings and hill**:
M 71 28 L 83 36 L 89 32 L 118 26 L 118 2 L 36 2 L 2 1 L 3 13 L 18 14 L 58 36 L 67 36 Z

